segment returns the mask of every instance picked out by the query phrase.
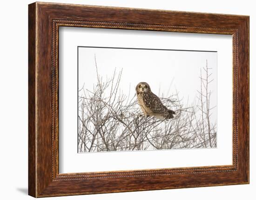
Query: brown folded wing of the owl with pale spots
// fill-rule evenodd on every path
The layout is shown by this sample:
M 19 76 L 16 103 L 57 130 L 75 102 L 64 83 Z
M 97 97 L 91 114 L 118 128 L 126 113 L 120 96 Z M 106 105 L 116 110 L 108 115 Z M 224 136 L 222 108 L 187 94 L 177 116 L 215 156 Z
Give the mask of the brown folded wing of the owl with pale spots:
M 167 108 L 162 104 L 159 97 L 153 92 L 144 93 L 143 101 L 145 106 L 148 107 L 152 112 L 162 114 Z

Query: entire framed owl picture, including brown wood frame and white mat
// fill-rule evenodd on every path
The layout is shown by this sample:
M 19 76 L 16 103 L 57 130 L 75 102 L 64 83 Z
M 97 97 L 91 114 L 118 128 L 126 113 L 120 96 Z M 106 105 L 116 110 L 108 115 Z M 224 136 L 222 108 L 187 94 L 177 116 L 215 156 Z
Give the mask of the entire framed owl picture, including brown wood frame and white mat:
M 249 183 L 249 16 L 28 8 L 29 195 Z

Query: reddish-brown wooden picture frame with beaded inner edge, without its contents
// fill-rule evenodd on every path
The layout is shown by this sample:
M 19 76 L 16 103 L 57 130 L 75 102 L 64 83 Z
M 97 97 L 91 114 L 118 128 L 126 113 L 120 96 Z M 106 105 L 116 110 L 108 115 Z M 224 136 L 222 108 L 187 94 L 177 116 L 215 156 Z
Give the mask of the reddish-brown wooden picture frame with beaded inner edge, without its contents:
M 28 6 L 28 194 L 99 194 L 249 183 L 249 16 L 33 3 Z M 59 174 L 60 26 L 233 36 L 233 164 Z

